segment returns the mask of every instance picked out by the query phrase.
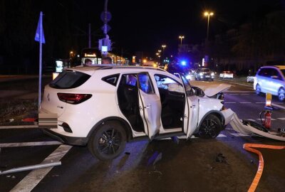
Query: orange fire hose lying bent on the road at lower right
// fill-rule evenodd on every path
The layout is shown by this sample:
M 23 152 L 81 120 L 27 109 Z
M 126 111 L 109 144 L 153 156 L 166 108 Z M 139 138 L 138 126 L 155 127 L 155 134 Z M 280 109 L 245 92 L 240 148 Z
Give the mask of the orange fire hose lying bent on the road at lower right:
M 252 185 L 249 187 L 249 192 L 253 192 L 257 188 L 257 185 L 259 183 L 264 168 L 264 160 L 261 152 L 257 149 L 252 149 L 252 147 L 264 148 L 264 149 L 285 149 L 285 146 L 274 146 L 267 144 L 244 144 L 245 150 L 251 151 L 254 154 L 258 154 L 259 156 L 259 167 L 257 169 L 257 174 L 254 177 L 254 181 L 252 181 Z

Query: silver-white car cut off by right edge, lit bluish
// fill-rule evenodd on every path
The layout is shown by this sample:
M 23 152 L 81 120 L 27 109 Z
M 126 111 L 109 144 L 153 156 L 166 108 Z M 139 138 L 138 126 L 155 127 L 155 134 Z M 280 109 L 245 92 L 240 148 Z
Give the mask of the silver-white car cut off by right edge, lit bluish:
M 285 66 L 263 66 L 257 71 L 254 80 L 254 90 L 257 95 L 269 92 L 278 96 L 279 101 L 285 100 Z

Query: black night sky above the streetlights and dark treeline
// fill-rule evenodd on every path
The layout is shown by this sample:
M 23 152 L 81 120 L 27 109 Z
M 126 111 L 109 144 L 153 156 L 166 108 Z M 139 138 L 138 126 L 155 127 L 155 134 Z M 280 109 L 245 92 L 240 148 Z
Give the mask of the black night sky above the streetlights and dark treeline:
M 108 0 L 112 18 L 108 35 L 114 53 L 131 55 L 143 51 L 155 56 L 162 44 L 165 52 L 177 53 L 178 36 L 183 43 L 202 43 L 207 36 L 204 11 L 213 11 L 209 22 L 209 39 L 269 11 L 284 10 L 285 0 Z M 43 30 L 47 59 L 68 58 L 70 50 L 88 47 L 88 23 L 91 24 L 92 47 L 103 38 L 100 14 L 105 0 L 0 0 L 0 55 L 13 57 L 25 50 L 22 59 L 33 57 L 37 44 L 33 37 L 38 16 L 43 11 Z M 1 20 L 1 18 L 4 18 Z M 3 27 L 4 26 L 4 27 Z M 4 29 L 4 30 L 2 30 Z M 45 56 L 45 55 L 43 55 Z

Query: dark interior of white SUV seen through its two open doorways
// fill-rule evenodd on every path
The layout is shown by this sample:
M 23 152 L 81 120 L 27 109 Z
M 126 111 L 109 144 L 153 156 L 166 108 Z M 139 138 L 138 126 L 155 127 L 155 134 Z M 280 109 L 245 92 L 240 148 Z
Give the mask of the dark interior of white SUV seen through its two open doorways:
M 177 82 L 169 83 L 170 78 L 155 75 L 162 106 L 161 120 L 164 129 L 182 127 L 182 117 L 185 109 L 185 92 L 182 85 Z M 175 86 L 173 86 L 175 85 Z M 174 90 L 176 87 L 177 90 Z M 122 75 L 118 85 L 118 103 L 121 112 L 128 119 L 136 132 L 144 132 L 142 118 L 140 117 L 138 101 L 137 75 Z

